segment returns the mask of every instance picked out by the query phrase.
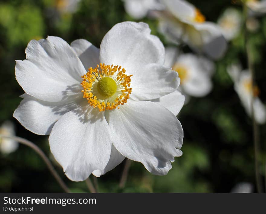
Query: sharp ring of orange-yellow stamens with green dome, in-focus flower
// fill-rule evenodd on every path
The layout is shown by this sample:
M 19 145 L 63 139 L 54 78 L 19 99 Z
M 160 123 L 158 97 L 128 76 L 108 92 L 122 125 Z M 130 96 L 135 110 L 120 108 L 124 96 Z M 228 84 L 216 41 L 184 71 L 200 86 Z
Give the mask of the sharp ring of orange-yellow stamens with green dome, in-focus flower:
M 125 69 L 118 65 L 105 65 L 100 63 L 96 68 L 89 68 L 89 71 L 81 76 L 80 83 L 84 90 L 83 98 L 99 111 L 112 110 L 118 105 L 124 105 L 131 94 L 131 76 L 126 75 Z

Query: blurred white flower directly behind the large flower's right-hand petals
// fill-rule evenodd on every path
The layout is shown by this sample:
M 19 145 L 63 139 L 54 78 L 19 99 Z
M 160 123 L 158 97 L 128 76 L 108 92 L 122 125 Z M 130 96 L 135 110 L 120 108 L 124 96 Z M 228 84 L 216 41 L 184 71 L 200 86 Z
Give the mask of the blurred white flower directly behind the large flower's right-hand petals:
M 187 95 L 186 102 L 189 96 L 203 97 L 211 91 L 214 64 L 210 60 L 194 54 L 178 54 L 177 48 L 168 47 L 164 64 L 178 72 L 178 90 Z

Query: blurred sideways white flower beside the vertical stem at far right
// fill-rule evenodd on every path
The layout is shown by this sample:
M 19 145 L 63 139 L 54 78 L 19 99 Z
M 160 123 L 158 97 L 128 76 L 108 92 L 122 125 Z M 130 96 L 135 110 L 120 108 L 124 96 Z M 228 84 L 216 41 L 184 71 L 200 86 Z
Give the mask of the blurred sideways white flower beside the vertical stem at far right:
M 252 87 L 250 72 L 248 70 L 241 72 L 241 66 L 238 64 L 230 65 L 227 71 L 234 81 L 235 91 L 248 115 L 251 116 L 251 100 L 252 96 L 254 96 L 253 109 L 255 120 L 259 124 L 264 124 L 266 122 L 266 109 L 258 98 L 258 87 Z

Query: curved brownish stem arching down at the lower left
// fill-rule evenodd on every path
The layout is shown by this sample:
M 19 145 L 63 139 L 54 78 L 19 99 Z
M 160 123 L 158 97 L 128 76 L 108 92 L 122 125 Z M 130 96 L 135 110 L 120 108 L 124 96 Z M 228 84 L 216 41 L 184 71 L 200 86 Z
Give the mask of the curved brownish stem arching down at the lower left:
M 38 155 L 40 155 L 40 157 L 44 160 L 44 162 L 47 165 L 47 168 L 50 170 L 51 174 L 54 176 L 54 178 L 57 180 L 58 184 L 61 186 L 61 188 L 65 191 L 65 192 L 70 192 L 70 190 L 68 189 L 68 187 L 66 186 L 66 184 L 63 182 L 63 180 L 60 178 L 60 176 L 57 174 L 57 172 L 55 171 L 53 165 L 51 164 L 50 160 L 47 158 L 47 156 L 44 154 L 44 152 L 37 146 L 35 145 L 33 142 L 21 138 L 21 137 L 17 137 L 17 136 L 7 136 L 7 135 L 0 135 L 0 138 L 9 138 L 9 139 L 13 139 L 21 144 L 24 144 L 28 147 L 30 147 L 31 149 L 33 149 L 35 152 L 37 152 Z

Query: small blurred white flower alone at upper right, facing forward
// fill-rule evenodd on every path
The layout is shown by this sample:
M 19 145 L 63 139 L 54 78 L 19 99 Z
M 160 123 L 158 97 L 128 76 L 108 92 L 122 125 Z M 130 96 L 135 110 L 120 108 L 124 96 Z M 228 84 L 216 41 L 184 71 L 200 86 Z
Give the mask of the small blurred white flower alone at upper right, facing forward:
M 235 8 L 227 8 L 218 19 L 217 24 L 227 40 L 237 37 L 242 25 L 241 13 Z

